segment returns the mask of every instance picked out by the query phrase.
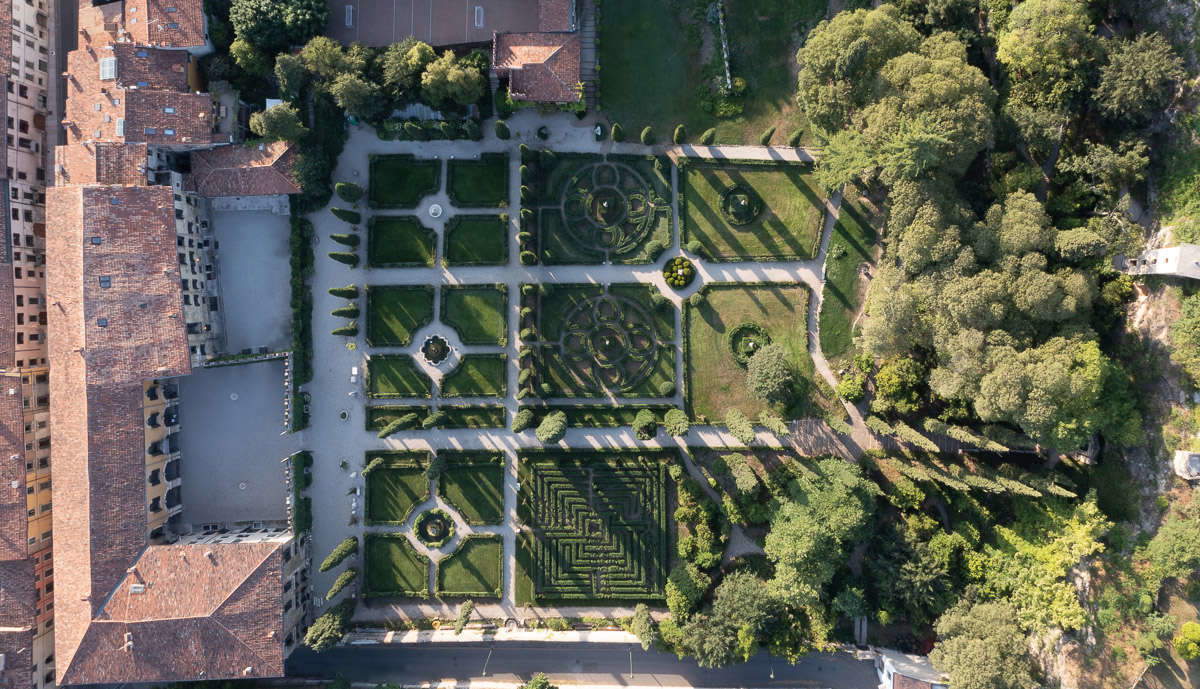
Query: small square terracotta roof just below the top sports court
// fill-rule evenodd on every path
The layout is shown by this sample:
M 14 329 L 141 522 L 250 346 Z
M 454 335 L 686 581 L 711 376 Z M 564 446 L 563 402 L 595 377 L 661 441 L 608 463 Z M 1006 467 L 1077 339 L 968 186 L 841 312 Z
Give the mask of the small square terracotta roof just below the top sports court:
M 492 64 L 509 78 L 515 98 L 542 103 L 574 103 L 580 89 L 580 35 L 497 34 Z

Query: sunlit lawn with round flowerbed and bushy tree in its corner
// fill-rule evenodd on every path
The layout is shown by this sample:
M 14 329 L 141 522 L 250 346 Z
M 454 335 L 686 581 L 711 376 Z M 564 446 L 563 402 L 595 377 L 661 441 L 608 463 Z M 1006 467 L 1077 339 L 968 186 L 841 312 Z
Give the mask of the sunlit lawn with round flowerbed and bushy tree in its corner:
M 746 388 L 745 369 L 730 351 L 727 332 L 742 323 L 756 323 L 784 346 L 805 388 L 797 402 L 780 409 L 787 418 L 812 415 L 812 402 L 820 395 L 811 383 L 815 372 L 808 352 L 809 290 L 796 286 L 714 286 L 706 288 L 707 299 L 696 307 L 688 305 L 688 406 L 694 419 L 724 423 L 730 409 L 740 409 L 755 419 L 767 405 Z

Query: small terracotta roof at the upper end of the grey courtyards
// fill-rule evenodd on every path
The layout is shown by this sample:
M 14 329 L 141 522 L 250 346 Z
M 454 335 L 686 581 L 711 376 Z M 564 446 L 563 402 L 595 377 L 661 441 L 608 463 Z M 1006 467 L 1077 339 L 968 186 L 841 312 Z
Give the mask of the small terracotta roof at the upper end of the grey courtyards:
M 300 193 L 292 179 L 294 158 L 287 142 L 196 151 L 186 184 L 206 197 Z

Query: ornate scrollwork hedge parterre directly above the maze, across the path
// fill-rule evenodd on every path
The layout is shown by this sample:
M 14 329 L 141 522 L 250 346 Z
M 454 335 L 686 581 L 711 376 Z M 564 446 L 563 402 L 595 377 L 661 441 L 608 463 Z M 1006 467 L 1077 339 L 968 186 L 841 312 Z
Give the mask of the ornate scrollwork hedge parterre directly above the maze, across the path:
M 544 284 L 532 346 L 542 397 L 670 397 L 674 307 L 644 284 Z M 533 335 L 533 337 L 526 337 Z

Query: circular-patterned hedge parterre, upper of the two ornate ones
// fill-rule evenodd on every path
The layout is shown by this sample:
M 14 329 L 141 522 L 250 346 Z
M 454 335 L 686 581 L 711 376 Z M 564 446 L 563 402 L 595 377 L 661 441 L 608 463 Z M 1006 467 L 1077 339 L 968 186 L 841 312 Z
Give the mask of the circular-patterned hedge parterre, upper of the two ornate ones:
M 544 263 L 649 263 L 671 244 L 668 160 L 544 152 L 523 167 Z

